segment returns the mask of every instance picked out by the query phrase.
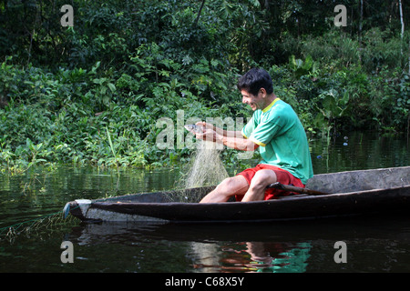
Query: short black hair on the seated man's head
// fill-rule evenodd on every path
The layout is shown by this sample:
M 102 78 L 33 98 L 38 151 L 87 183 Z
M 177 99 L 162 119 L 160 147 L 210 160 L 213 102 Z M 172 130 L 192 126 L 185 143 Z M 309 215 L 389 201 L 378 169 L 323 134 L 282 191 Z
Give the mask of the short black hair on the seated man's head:
M 259 90 L 264 88 L 267 94 L 273 93 L 272 77 L 265 70 L 254 67 L 245 75 L 242 75 L 238 81 L 238 89 L 245 90 L 251 95 L 258 95 Z

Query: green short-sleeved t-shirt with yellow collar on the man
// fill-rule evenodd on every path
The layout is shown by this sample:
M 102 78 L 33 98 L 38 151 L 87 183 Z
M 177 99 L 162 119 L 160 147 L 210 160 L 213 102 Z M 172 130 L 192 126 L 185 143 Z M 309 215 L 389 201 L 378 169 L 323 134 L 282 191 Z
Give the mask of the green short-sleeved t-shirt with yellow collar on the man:
M 255 110 L 242 135 L 259 145 L 261 163 L 279 166 L 305 185 L 313 177 L 309 145 L 303 125 L 292 106 L 276 98 L 263 110 Z

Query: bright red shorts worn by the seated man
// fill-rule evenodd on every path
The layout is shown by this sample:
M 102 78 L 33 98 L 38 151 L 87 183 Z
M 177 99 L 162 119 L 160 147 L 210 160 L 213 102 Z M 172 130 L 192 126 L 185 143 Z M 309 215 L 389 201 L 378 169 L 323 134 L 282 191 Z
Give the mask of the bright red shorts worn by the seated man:
M 246 181 L 248 182 L 249 185 L 251 185 L 251 179 L 253 176 L 255 176 L 256 172 L 262 169 L 270 169 L 276 174 L 277 182 L 283 184 L 283 185 L 292 185 L 292 186 L 297 186 L 297 187 L 302 187 L 304 188 L 304 185 L 302 184 L 301 179 L 292 176 L 291 173 L 289 173 L 286 170 L 281 169 L 280 167 L 277 166 L 271 166 L 271 165 L 266 165 L 266 164 L 259 164 L 258 166 L 255 166 L 253 168 L 249 168 L 244 170 L 243 172 L 239 173 L 238 175 L 244 176 Z M 279 196 L 288 196 L 290 195 L 291 192 L 289 191 L 284 191 L 284 190 L 279 190 L 275 188 L 269 188 L 266 189 L 265 191 L 265 196 L 263 200 L 269 200 L 269 199 L 274 199 Z M 243 195 L 236 195 L 235 196 L 237 201 L 241 201 L 243 198 Z

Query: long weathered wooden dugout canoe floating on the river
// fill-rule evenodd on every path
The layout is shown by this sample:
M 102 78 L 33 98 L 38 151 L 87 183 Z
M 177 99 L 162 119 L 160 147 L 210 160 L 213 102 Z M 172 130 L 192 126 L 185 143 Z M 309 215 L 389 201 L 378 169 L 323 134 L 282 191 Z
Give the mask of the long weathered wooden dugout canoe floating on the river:
M 311 219 L 326 216 L 410 215 L 410 166 L 313 176 L 307 188 L 328 195 L 283 196 L 255 202 L 199 204 L 214 186 L 80 199 L 64 208 L 82 221 L 248 222 Z M 194 202 L 179 202 L 192 198 Z

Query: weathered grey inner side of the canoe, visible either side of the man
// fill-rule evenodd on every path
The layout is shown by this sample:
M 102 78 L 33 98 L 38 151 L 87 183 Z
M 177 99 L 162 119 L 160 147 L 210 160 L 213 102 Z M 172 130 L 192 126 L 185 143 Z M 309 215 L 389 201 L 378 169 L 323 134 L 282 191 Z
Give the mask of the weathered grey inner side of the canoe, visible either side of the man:
M 306 185 L 307 188 L 329 194 L 352 193 L 374 189 L 389 189 L 410 185 L 410 166 L 339 172 L 313 176 Z M 199 202 L 215 186 L 205 186 L 190 189 L 172 190 L 155 193 L 142 193 L 127 196 L 117 196 L 104 199 L 112 202 L 128 203 L 169 203 L 169 202 Z

